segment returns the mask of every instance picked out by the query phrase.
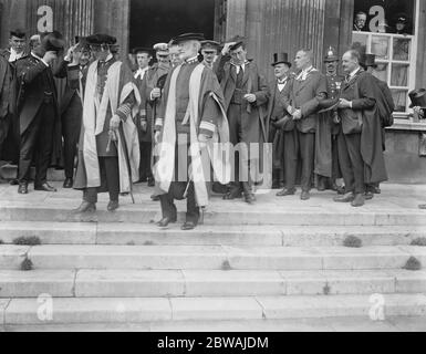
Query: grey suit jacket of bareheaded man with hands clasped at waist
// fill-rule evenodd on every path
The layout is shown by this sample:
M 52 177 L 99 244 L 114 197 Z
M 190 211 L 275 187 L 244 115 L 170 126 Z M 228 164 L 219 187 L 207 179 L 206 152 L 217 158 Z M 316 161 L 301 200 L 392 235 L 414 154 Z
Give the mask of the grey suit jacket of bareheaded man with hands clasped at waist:
M 326 79 L 318 70 L 311 71 L 306 80 L 293 80 L 292 85 L 285 87 L 285 110 L 300 110 L 302 118 L 297 122 L 297 128 L 302 133 L 315 133 L 319 117 L 319 101 L 326 98 Z M 292 110 L 290 110 L 290 106 Z M 290 111 L 289 111 L 290 110 Z

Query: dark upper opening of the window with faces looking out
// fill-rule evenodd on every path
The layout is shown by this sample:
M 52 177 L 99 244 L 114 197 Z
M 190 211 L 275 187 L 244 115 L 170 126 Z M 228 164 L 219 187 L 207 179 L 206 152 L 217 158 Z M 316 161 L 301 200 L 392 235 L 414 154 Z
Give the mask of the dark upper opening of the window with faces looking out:
M 353 31 L 414 34 L 415 0 L 354 2 Z

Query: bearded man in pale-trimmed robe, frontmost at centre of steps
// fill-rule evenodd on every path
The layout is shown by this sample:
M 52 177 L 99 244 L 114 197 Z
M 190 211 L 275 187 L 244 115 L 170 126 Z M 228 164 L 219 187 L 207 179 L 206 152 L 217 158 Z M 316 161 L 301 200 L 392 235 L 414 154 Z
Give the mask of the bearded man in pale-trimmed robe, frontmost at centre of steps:
M 199 208 L 208 204 L 206 183 L 210 178 L 210 166 L 217 178 L 222 177 L 221 154 L 212 153 L 220 145 L 214 143 L 228 143 L 228 122 L 219 82 L 210 69 L 198 62 L 201 40 L 201 33 L 185 33 L 175 39 L 184 62 L 167 77 L 155 125 L 158 143 L 155 194 L 159 196 L 163 214 L 157 222 L 159 227 L 176 222 L 174 199 L 186 197 L 186 221 L 181 229 L 194 229 Z

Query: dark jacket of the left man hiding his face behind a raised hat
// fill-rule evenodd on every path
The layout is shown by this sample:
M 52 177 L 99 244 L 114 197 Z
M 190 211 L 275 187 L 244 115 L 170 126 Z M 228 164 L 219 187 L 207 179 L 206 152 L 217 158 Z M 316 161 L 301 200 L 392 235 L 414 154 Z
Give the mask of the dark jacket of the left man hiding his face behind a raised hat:
M 66 76 L 67 62 L 60 60 L 54 72 L 51 66 L 46 66 L 42 61 L 28 55 L 17 61 L 18 77 L 18 114 L 20 119 L 20 132 L 23 134 L 34 119 L 40 106 L 44 100 L 44 82 L 49 82 L 50 90 L 53 93 L 53 101 L 59 116 L 56 87 L 53 76 Z

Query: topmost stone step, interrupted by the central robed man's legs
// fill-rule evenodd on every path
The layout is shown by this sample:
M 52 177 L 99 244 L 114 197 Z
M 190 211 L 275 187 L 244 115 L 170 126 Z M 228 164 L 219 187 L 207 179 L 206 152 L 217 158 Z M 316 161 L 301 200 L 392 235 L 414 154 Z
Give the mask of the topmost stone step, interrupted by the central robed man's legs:
M 23 196 L 25 197 L 25 196 Z M 146 205 L 123 205 L 116 212 L 106 211 L 106 204 L 100 202 L 98 210 L 91 215 L 75 215 L 73 209 L 79 200 L 50 199 L 49 205 L 31 202 L 39 196 L 15 197 L 13 205 L 0 205 L 0 221 L 61 221 L 61 222 L 133 222 L 149 223 L 160 219 L 159 205 L 147 201 Z M 335 209 L 324 209 L 321 206 L 293 208 L 291 204 L 278 208 L 276 205 L 246 206 L 241 202 L 212 205 L 205 212 L 206 225 L 285 225 L 285 226 L 409 226 L 425 227 L 426 212 L 422 210 L 361 208 L 354 209 L 349 205 L 334 206 Z M 183 208 L 179 208 L 183 210 Z M 185 214 L 178 212 L 183 222 Z

